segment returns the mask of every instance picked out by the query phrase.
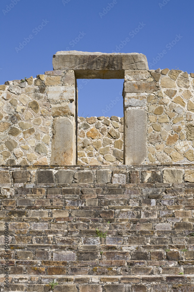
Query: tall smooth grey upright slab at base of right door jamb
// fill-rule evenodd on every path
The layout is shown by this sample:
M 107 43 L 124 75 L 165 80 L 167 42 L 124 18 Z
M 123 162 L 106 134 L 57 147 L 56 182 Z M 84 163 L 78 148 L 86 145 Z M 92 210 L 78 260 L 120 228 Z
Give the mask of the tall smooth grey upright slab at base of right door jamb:
M 124 114 L 124 164 L 140 164 L 147 156 L 147 113 L 143 109 L 129 109 Z

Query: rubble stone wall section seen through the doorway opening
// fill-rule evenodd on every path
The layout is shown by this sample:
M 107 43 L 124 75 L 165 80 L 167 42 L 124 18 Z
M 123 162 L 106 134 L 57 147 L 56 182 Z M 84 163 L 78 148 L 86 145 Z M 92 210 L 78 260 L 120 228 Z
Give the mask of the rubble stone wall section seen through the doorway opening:
M 123 164 L 123 118 L 80 117 L 77 142 L 77 164 Z

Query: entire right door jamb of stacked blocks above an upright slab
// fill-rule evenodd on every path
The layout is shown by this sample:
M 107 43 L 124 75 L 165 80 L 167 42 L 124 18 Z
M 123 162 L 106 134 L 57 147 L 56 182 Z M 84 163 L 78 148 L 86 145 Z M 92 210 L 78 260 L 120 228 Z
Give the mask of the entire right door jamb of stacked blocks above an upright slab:
M 147 157 L 147 95 L 158 90 L 147 70 L 125 70 L 124 164 L 141 164 Z

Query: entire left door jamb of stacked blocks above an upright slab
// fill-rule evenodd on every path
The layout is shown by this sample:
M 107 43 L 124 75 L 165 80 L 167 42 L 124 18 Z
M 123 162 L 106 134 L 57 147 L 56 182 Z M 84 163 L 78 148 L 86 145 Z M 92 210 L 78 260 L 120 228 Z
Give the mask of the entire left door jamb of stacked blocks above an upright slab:
M 45 72 L 53 116 L 51 165 L 76 164 L 76 79 L 73 70 Z

